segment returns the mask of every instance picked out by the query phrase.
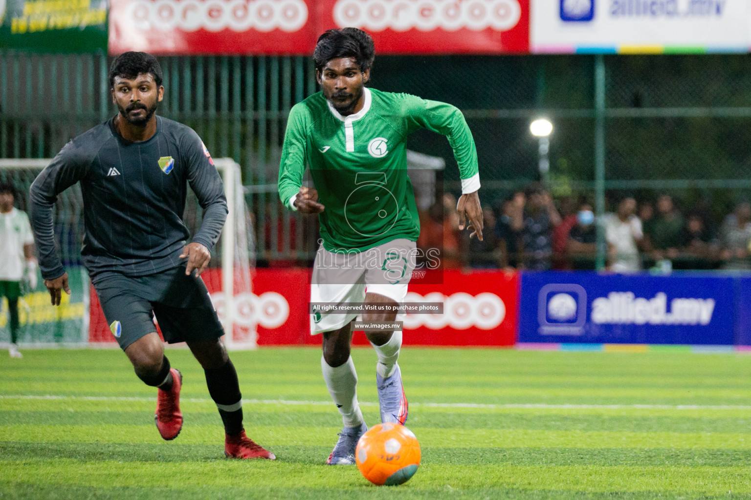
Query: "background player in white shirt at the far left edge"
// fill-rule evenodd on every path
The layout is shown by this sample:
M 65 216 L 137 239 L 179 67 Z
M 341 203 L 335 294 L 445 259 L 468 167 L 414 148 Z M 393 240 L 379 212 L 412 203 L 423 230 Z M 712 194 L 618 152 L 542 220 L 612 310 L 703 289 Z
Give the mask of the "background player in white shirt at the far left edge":
M 23 358 L 18 350 L 18 299 L 21 282 L 37 287 L 37 259 L 34 234 L 25 211 L 14 207 L 16 190 L 12 184 L 0 184 L 0 300 L 8 299 L 8 326 L 11 330 L 11 358 Z

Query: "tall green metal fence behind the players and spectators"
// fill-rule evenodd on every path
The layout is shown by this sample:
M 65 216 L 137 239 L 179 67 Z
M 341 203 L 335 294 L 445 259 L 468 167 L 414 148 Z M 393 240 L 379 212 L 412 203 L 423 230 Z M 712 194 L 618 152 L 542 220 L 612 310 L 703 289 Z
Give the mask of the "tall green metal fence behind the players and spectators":
M 104 54 L 0 52 L 0 157 L 50 157 L 113 115 Z M 307 259 L 315 220 L 276 197 L 285 120 L 317 91 L 303 56 L 160 58 L 161 115 L 198 131 L 215 156 L 243 166 L 259 260 Z M 708 200 L 719 223 L 751 192 L 751 58 L 747 55 L 383 56 L 371 85 L 454 103 L 478 145 L 483 201 L 498 202 L 537 175 L 529 122 L 545 116 L 550 186 L 584 193 L 599 212 L 611 193 L 659 190 L 683 208 Z M 448 161 L 445 189 L 460 184 L 440 136 L 415 133 L 409 148 Z

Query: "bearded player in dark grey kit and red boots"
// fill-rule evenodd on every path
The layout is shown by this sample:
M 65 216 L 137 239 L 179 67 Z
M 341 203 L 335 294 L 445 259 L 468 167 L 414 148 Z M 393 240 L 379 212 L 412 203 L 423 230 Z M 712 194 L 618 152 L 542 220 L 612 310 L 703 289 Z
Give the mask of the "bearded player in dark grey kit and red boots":
M 110 331 L 136 375 L 158 388 L 156 427 L 175 439 L 182 429 L 182 375 L 170 368 L 164 339 L 185 342 L 206 373 L 209 394 L 225 424 L 225 455 L 274 455 L 249 439 L 237 372 L 219 337 L 224 331 L 201 280 L 227 217 L 222 179 L 190 127 L 155 115 L 164 97 L 161 67 L 145 52 L 125 52 L 110 67 L 118 115 L 68 142 L 31 188 L 39 267 L 54 305 L 70 293 L 53 241 L 56 197 L 81 184 L 86 232 L 83 263 Z M 182 223 L 187 184 L 204 209 L 201 229 Z

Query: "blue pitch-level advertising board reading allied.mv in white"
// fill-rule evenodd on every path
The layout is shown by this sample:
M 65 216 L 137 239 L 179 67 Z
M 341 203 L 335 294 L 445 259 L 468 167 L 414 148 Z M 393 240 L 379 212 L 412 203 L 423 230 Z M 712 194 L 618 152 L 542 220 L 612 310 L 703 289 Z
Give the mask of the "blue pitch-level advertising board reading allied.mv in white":
M 733 344 L 734 280 L 523 273 L 519 341 Z

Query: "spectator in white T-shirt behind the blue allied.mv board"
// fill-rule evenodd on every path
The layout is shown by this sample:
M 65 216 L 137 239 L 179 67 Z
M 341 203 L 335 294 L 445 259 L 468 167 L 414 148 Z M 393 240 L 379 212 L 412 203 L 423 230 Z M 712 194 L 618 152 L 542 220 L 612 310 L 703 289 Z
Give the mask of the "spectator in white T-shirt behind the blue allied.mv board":
M 638 244 L 644 238 L 644 233 L 635 211 L 636 200 L 626 196 L 618 202 L 615 214 L 605 215 L 609 267 L 616 273 L 634 273 L 641 269 Z

